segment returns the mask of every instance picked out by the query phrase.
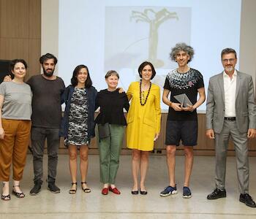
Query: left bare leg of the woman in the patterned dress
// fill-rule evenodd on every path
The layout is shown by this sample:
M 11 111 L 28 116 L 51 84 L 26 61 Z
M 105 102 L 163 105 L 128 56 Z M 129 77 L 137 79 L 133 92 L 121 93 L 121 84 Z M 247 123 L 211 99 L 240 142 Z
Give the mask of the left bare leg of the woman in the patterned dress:
M 75 145 L 69 145 L 69 170 L 72 183 L 76 183 L 78 173 L 78 148 Z M 76 185 L 73 184 L 71 189 L 76 189 Z

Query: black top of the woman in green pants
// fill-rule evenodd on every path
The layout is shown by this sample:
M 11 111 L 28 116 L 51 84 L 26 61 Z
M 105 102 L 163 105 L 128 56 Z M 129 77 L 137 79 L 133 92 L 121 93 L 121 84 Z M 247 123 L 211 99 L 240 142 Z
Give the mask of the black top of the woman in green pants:
M 99 91 L 96 98 L 96 108 L 100 107 L 100 112 L 95 123 L 97 124 L 116 124 L 127 126 L 124 117 L 124 110 L 129 110 L 129 101 L 126 93 L 118 91 L 108 91 L 108 89 Z

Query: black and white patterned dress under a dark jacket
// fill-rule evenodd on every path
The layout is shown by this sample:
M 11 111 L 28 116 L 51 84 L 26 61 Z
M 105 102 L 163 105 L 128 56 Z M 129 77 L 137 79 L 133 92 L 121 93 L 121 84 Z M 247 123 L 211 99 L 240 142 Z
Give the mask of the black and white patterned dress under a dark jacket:
M 69 110 L 69 129 L 64 144 L 81 145 L 89 144 L 88 137 L 88 99 L 86 88 L 75 88 Z

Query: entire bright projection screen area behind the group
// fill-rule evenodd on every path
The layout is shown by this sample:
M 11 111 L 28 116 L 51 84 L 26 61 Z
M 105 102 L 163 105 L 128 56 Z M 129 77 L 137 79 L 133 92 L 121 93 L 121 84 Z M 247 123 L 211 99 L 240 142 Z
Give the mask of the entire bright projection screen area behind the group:
M 151 61 L 157 71 L 152 82 L 162 89 L 178 67 L 170 50 L 185 42 L 195 50 L 189 66 L 203 74 L 207 91 L 209 78 L 223 70 L 222 49 L 232 47 L 240 57 L 240 24 L 241 0 L 61 0 L 56 73 L 69 85 L 75 66 L 85 64 L 99 91 L 106 88 L 106 72 L 116 70 L 118 86 L 127 91 L 140 79 L 138 66 Z

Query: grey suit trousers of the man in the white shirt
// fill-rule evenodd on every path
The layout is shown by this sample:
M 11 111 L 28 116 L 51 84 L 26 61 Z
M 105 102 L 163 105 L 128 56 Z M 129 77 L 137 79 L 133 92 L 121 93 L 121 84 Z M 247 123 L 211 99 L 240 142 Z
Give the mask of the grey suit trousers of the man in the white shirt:
M 225 120 L 222 133 L 215 134 L 216 188 L 225 188 L 228 140 L 232 137 L 236 150 L 236 170 L 240 193 L 249 193 L 249 161 L 247 133 L 238 131 L 236 121 Z

